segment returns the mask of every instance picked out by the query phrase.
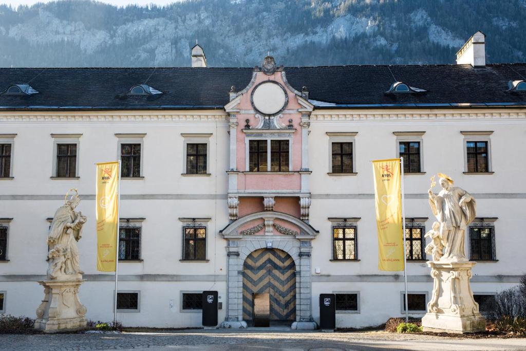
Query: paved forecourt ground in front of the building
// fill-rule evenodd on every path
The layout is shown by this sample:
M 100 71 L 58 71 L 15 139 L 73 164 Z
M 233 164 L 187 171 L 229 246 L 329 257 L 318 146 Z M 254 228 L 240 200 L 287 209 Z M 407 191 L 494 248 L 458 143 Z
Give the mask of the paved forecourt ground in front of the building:
M 459 339 L 385 332 L 184 330 L 155 333 L 0 335 L 0 350 L 526 350 L 526 339 Z

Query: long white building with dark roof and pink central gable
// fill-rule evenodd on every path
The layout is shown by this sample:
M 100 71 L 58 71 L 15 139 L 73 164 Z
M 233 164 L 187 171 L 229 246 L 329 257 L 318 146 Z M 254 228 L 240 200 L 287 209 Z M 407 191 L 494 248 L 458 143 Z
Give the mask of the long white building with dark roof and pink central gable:
M 485 64 L 474 37 L 458 65 L 207 68 L 196 49 L 204 67 L 0 69 L 1 312 L 35 315 L 49 220 L 76 188 L 88 217 L 80 299 L 87 318 L 113 318 L 114 275 L 96 271 L 94 163 L 115 159 L 126 326 L 200 326 L 203 290 L 219 292 L 232 326 L 250 324 L 253 293 L 269 293 L 284 323 L 319 322 L 321 293 L 337 294 L 338 327 L 401 316 L 403 272 L 377 268 L 371 167 L 398 156 L 410 314 L 432 289 L 421 237 L 438 172 L 477 200 L 476 298 L 516 285 L 526 64 Z

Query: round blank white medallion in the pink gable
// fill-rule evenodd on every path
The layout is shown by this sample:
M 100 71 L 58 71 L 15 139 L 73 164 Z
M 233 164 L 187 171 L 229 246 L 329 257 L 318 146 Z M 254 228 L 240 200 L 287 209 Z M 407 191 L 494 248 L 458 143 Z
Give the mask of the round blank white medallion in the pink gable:
M 287 94 L 285 89 L 275 82 L 264 82 L 252 92 L 252 106 L 263 115 L 274 115 L 285 108 Z

